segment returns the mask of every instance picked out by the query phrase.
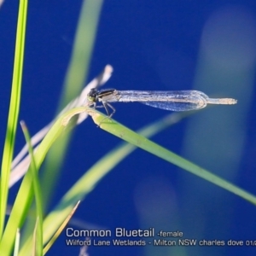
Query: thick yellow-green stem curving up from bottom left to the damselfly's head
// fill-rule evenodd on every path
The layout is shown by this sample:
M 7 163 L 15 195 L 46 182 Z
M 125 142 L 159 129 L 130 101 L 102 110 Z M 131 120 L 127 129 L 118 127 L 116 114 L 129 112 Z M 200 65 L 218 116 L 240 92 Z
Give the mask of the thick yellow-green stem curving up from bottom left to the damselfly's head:
M 41 166 L 45 155 L 49 151 L 51 145 L 55 142 L 56 138 L 65 131 L 67 121 L 71 119 L 73 115 L 82 113 L 84 111 L 84 108 L 74 108 L 61 115 L 61 117 L 55 121 L 55 124 L 44 137 L 44 140 L 39 145 L 37 152 L 34 154 L 35 163 L 38 168 Z M 3 233 L 3 239 L 0 243 L 0 252 L 4 253 L 3 255 L 1 254 L 1 256 L 10 255 L 15 241 L 15 232 L 18 227 L 22 226 L 31 203 L 32 175 L 30 173 L 26 173 L 26 176 L 23 178 L 21 183 L 18 195 L 15 198 L 14 207 Z

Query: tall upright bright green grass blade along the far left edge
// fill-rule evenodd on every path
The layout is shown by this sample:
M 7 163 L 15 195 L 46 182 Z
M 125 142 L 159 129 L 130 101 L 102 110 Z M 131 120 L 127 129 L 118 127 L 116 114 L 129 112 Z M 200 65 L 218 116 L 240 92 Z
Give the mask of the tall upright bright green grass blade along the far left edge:
M 15 135 L 17 129 L 18 115 L 20 111 L 20 90 L 24 60 L 25 34 L 26 34 L 26 12 L 27 1 L 20 1 L 16 44 L 15 44 L 15 64 L 13 73 L 12 90 L 9 105 L 9 117 L 6 137 L 3 147 L 3 161 L 0 181 L 0 240 L 3 236 L 3 225 L 9 190 L 9 172 L 14 154 Z

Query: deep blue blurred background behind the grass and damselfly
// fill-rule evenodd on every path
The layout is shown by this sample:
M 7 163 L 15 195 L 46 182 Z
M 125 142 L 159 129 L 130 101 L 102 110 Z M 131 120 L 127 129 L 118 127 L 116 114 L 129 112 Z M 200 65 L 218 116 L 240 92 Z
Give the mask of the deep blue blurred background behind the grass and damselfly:
M 31 134 L 55 116 L 82 1 L 30 1 L 20 119 Z M 15 49 L 18 2 L 0 9 L 0 108 L 3 142 Z M 233 97 L 235 106 L 198 111 L 153 141 L 256 194 L 256 3 L 236 1 L 105 1 L 87 82 L 106 64 L 104 85 L 117 90 L 202 90 Z M 85 85 L 85 84 L 84 84 Z M 167 112 L 116 104 L 114 119 L 133 130 Z M 101 110 L 101 109 L 100 109 Z M 18 129 L 15 154 L 24 145 Z M 73 134 L 49 208 L 120 140 L 86 119 Z M 2 149 L 3 150 L 3 149 Z M 15 198 L 17 184 L 11 190 Z M 47 189 L 47 188 L 43 188 Z M 183 232 L 197 240 L 256 240 L 256 208 L 230 192 L 137 149 L 97 184 L 75 218 L 114 230 Z M 48 255 L 79 255 L 63 234 Z M 252 255 L 254 247 L 90 247 L 93 255 Z

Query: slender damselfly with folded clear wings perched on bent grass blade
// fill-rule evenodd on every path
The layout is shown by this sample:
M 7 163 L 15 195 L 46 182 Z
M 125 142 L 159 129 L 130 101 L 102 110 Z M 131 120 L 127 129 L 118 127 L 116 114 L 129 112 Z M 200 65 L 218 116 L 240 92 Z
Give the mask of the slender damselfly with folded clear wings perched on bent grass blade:
M 98 102 L 106 109 L 108 117 L 115 113 L 115 108 L 110 102 L 140 102 L 154 108 L 161 108 L 171 111 L 187 111 L 205 108 L 207 104 L 236 104 L 231 98 L 209 98 L 199 90 L 96 90 L 91 89 L 87 95 L 89 105 L 93 108 Z M 113 110 L 112 113 L 109 109 Z

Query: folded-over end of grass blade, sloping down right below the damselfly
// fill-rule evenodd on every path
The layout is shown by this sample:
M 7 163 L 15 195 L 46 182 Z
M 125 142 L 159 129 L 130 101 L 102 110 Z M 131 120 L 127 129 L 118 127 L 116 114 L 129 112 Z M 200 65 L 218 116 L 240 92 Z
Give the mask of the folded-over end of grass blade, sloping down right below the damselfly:
M 95 109 L 87 108 L 87 112 L 90 114 L 96 125 L 99 125 L 102 130 L 108 131 L 114 136 L 119 137 L 126 142 L 137 146 L 138 148 L 143 148 L 149 153 L 154 154 L 175 166 L 183 168 L 184 170 L 191 172 L 196 176 L 202 177 L 210 183 L 214 183 L 219 187 L 226 189 L 235 195 L 241 196 L 241 198 L 256 205 L 256 196 L 248 193 L 246 190 L 240 189 L 236 185 L 227 182 L 223 178 L 212 174 L 212 172 L 208 172 L 206 169 L 203 169 L 200 166 L 196 166 L 194 163 L 190 162 L 189 160 L 185 160 L 181 156 L 172 153 L 166 148 L 160 147 L 160 145 L 151 142 L 146 137 L 143 137 L 134 131 L 131 131 L 124 125 L 120 125 L 113 119 L 108 119 L 106 115 L 96 111 Z

